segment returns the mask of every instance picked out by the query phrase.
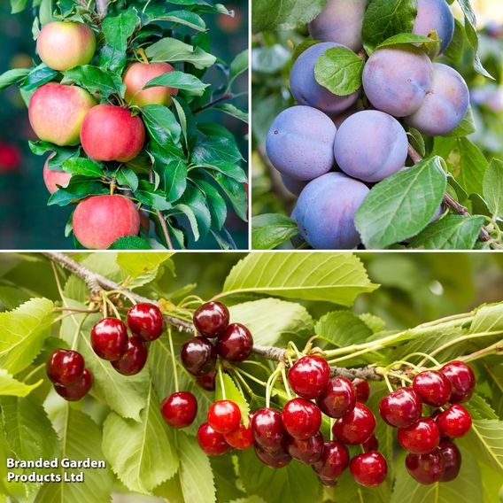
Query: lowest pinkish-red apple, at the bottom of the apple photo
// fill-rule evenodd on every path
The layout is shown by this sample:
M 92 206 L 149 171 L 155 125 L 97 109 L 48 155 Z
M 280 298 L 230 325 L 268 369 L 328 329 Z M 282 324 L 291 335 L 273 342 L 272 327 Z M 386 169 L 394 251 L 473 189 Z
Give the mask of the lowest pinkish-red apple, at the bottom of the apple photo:
M 140 213 L 124 196 L 91 196 L 77 205 L 74 235 L 90 250 L 106 250 L 116 239 L 136 236 Z

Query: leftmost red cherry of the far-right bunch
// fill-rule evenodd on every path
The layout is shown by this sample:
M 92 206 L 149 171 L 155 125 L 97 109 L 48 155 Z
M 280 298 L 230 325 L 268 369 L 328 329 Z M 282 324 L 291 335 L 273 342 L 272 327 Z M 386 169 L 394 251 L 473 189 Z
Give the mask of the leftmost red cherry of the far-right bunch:
M 395 428 L 406 428 L 422 416 L 422 402 L 412 388 L 400 388 L 379 403 L 383 421 Z

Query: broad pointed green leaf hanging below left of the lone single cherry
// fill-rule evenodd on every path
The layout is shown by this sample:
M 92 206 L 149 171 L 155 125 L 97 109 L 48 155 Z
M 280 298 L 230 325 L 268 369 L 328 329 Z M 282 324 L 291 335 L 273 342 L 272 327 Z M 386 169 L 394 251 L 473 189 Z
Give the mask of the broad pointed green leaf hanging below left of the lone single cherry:
M 162 419 L 159 399 L 151 386 L 140 422 L 123 419 L 115 413 L 106 418 L 103 450 L 113 472 L 130 491 L 150 494 L 174 476 L 178 456 L 173 430 Z

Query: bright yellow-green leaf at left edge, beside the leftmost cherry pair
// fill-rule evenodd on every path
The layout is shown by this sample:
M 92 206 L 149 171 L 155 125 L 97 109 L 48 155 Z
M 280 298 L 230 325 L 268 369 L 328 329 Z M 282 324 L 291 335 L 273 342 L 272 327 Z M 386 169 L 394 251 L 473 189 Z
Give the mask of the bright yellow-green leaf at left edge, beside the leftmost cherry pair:
M 50 334 L 53 307 L 47 298 L 33 298 L 0 313 L 0 367 L 15 375 L 35 359 Z

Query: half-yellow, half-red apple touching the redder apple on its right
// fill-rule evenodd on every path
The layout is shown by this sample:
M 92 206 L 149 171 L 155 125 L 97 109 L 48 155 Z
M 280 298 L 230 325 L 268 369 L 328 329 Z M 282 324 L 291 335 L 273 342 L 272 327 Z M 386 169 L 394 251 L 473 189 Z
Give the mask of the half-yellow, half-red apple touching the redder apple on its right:
M 50 82 L 36 89 L 28 117 L 41 140 L 59 146 L 77 145 L 82 121 L 95 105 L 94 97 L 85 89 Z

